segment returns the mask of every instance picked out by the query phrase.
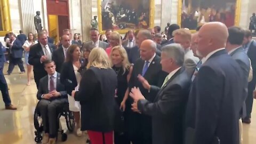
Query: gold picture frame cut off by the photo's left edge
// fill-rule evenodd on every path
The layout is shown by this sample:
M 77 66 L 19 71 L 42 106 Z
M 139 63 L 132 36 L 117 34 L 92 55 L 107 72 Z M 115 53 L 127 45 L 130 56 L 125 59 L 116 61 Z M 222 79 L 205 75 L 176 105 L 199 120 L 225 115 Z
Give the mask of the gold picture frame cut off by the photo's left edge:
M 3 26 L 3 30 L 0 31 L 0 36 L 5 36 L 5 34 L 12 31 L 9 0 L 0 1 L 0 14 L 2 16 L 1 22 Z

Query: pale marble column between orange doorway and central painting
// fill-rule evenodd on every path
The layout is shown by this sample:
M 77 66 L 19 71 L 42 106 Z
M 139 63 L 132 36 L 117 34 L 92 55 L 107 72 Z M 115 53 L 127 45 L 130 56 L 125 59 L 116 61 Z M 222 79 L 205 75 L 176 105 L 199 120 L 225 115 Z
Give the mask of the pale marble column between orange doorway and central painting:
M 92 19 L 92 1 L 81 0 L 82 11 L 82 41 L 86 42 L 90 40 L 89 30 L 91 28 Z

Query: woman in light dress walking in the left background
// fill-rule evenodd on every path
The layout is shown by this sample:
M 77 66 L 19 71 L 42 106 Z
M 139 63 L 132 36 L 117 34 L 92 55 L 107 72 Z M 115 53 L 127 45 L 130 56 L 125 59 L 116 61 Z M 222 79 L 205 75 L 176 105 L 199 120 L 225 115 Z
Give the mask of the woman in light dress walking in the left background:
M 23 49 L 25 51 L 25 63 L 27 65 L 27 85 L 30 85 L 30 78 L 31 78 L 31 71 L 33 69 L 33 66 L 29 65 L 28 63 L 28 55 L 30 51 L 30 46 L 33 46 L 34 44 L 37 44 L 37 41 L 35 41 L 35 37 L 33 33 L 28 33 L 28 39 L 23 44 Z

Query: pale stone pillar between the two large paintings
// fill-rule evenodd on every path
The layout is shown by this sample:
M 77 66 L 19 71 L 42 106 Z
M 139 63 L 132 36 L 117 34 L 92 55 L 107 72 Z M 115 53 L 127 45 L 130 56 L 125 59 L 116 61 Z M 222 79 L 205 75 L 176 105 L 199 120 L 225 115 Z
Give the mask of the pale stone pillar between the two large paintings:
M 161 28 L 164 31 L 164 28 L 167 26 L 167 23 L 171 23 L 172 17 L 172 3 L 170 0 L 162 0 L 162 19 L 161 19 Z M 172 24 L 172 23 L 171 23 Z

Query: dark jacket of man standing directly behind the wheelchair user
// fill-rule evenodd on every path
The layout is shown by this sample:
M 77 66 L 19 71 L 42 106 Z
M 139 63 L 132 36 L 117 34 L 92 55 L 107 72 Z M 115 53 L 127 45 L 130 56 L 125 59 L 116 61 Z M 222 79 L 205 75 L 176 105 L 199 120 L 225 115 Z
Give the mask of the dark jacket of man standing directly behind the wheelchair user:
M 53 51 L 52 60 L 55 62 L 56 71 L 60 73 L 63 62 L 65 61 L 65 55 L 62 46 L 59 46 L 57 50 Z

